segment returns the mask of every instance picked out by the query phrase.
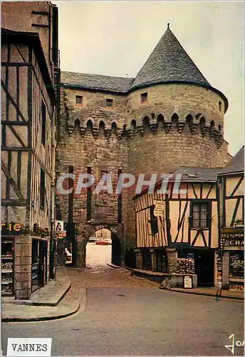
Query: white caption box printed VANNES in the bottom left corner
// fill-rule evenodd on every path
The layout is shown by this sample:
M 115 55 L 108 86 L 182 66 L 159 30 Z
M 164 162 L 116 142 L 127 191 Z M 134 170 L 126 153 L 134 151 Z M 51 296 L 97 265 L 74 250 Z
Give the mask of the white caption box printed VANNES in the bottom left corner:
M 51 356 L 52 338 L 8 338 L 7 356 Z

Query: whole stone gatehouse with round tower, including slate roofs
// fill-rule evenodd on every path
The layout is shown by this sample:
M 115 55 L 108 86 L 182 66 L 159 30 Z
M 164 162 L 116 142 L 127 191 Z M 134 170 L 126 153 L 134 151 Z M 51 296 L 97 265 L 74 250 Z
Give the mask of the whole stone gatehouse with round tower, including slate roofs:
M 57 176 L 95 176 L 90 189 L 57 196 L 58 218 L 77 223 L 77 266 L 100 228 L 113 232 L 123 263 L 135 246 L 134 189 L 94 194 L 103 174 L 170 173 L 178 166 L 224 167 L 228 101 L 204 78 L 169 26 L 135 79 L 61 72 Z M 126 260 L 129 256 L 126 256 Z M 118 258 L 115 258 L 118 262 Z

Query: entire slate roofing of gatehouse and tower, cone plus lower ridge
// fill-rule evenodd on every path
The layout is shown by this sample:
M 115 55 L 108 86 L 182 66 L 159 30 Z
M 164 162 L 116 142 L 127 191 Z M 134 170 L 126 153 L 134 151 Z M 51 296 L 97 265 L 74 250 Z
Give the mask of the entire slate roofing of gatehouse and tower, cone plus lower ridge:
M 68 88 L 127 94 L 135 89 L 160 83 L 185 83 L 204 86 L 215 91 L 224 99 L 224 112 L 228 109 L 226 96 L 212 87 L 204 78 L 169 27 L 135 79 L 61 71 L 61 85 Z

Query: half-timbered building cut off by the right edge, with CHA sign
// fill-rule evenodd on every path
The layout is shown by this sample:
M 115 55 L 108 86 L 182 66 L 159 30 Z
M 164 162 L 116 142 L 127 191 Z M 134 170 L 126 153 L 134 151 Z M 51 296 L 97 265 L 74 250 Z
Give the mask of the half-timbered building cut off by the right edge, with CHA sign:
M 244 147 L 220 171 L 222 288 L 244 290 Z

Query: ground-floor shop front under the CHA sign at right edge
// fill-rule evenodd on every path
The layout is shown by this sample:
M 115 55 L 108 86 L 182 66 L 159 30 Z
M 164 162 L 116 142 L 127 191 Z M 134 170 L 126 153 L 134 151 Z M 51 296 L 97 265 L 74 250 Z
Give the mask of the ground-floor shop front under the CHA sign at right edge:
M 223 228 L 221 241 L 222 288 L 244 290 L 244 229 Z

